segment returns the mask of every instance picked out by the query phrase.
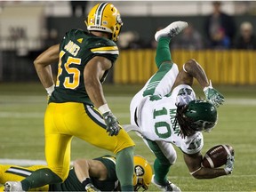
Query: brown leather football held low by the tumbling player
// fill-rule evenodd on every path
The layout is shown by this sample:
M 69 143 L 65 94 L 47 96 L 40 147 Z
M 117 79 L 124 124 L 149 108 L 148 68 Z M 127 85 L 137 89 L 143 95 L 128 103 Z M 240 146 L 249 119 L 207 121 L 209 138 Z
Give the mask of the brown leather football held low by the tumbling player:
M 217 145 L 204 155 L 202 165 L 207 168 L 218 168 L 227 163 L 228 154 L 234 156 L 234 148 L 229 145 Z

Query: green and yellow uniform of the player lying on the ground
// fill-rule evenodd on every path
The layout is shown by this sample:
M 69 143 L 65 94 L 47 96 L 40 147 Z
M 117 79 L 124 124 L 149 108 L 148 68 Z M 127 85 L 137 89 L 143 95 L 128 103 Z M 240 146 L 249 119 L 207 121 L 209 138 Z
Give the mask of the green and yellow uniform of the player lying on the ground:
M 97 180 L 92 178 L 92 184 L 101 191 L 112 191 L 117 188 L 118 180 L 116 177 L 116 159 L 114 156 L 100 156 L 94 158 L 104 164 L 108 170 L 106 180 Z M 20 167 L 16 165 L 0 165 L 0 183 L 4 184 L 7 180 L 20 181 L 30 175 L 32 172 L 44 168 L 44 165 L 34 165 L 30 167 Z M 0 188 L 3 191 L 4 187 Z M 63 183 L 47 185 L 42 188 L 33 188 L 33 191 L 84 191 L 84 186 L 77 179 L 74 168 L 68 172 L 68 178 Z

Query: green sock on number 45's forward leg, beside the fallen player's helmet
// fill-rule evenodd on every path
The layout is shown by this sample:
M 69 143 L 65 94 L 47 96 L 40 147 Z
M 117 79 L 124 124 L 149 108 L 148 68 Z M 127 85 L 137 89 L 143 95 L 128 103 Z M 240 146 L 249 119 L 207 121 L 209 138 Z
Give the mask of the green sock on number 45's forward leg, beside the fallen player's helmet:
M 122 191 L 133 191 L 133 147 L 116 154 L 116 175 Z

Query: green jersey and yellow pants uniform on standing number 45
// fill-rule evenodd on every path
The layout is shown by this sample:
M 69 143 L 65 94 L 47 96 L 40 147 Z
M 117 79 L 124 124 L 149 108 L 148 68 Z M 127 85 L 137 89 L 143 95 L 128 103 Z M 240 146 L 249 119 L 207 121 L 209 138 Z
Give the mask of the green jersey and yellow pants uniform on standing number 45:
M 73 136 L 115 154 L 134 146 L 124 129 L 117 136 L 108 136 L 105 121 L 85 90 L 84 68 L 95 56 L 105 57 L 113 65 L 118 48 L 107 38 L 76 29 L 70 30 L 60 44 L 58 76 L 44 116 L 44 133 L 48 167 L 62 180 L 68 177 Z M 107 75 L 108 71 L 101 83 Z

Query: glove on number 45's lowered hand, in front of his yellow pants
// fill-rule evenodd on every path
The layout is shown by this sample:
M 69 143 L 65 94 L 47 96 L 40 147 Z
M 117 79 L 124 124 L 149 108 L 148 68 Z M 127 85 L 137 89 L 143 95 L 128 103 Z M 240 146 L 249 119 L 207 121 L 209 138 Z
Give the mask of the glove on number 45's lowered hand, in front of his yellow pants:
M 121 129 L 121 126 L 119 125 L 116 116 L 114 116 L 111 111 L 108 111 L 108 112 L 102 114 L 102 116 L 107 125 L 106 130 L 107 130 L 107 132 L 109 132 L 108 135 L 110 135 L 110 136 L 117 135 Z

